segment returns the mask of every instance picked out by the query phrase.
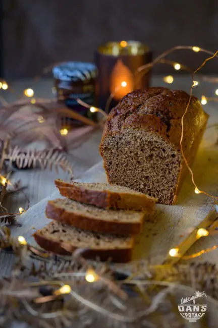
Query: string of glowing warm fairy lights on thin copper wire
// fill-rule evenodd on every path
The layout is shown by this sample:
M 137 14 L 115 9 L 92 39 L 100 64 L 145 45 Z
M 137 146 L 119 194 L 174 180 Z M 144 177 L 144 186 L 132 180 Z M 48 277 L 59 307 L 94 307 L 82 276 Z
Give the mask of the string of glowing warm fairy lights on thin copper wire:
M 121 46 L 122 46 L 122 47 L 127 46 L 127 41 L 121 41 Z M 178 50 L 178 49 L 191 49 L 193 52 L 196 52 L 196 53 L 199 52 L 199 51 L 202 51 L 202 52 L 209 53 L 209 54 L 211 54 L 212 56 L 209 57 L 209 58 L 207 58 L 207 59 L 204 61 L 204 63 L 203 63 L 203 64 L 202 64 L 197 70 L 195 70 L 195 72 L 192 73 L 192 71 L 191 71 L 190 68 L 187 68 L 186 66 L 182 65 L 181 63 L 173 62 L 173 61 L 166 61 L 166 60 L 163 59 L 163 58 L 165 58 L 169 53 L 171 53 L 171 52 L 173 52 L 173 51 L 175 51 L 175 50 Z M 146 65 L 142 66 L 141 68 L 139 68 L 139 69 L 138 69 L 138 72 L 141 72 L 141 71 L 143 71 L 143 70 L 146 70 L 146 72 L 147 72 L 147 70 L 151 69 L 151 67 L 153 67 L 155 64 L 157 64 L 157 63 L 163 63 L 163 64 L 168 64 L 168 65 L 173 66 L 174 69 L 175 69 L 176 71 L 179 71 L 179 70 L 185 70 L 185 71 L 187 71 L 187 72 L 189 72 L 189 73 L 192 73 L 192 76 L 194 76 L 194 74 L 197 73 L 197 72 L 200 70 L 200 68 L 202 68 L 202 67 L 204 66 L 204 64 L 205 64 L 208 60 L 210 60 L 210 59 L 212 59 L 212 58 L 214 58 L 214 57 L 217 57 L 217 53 L 218 53 L 218 51 L 216 51 L 215 53 L 212 53 L 211 51 L 208 51 L 208 50 L 202 49 L 202 48 L 200 48 L 200 47 L 198 47 L 198 46 L 176 46 L 176 47 L 174 47 L 174 48 L 172 48 L 172 49 L 169 49 L 169 50 L 163 52 L 163 53 L 162 53 L 160 56 L 158 56 L 158 57 L 157 57 L 152 63 L 146 64 Z M 53 66 L 50 66 L 50 68 L 52 68 L 52 67 L 53 67 Z M 146 73 L 146 72 L 145 72 L 145 73 Z M 204 76 L 201 75 L 201 77 L 204 77 Z M 172 84 L 172 83 L 174 82 L 174 77 L 173 77 L 172 75 L 165 76 L 165 77 L 163 77 L 163 81 L 164 81 L 165 83 L 167 83 L 167 84 Z M 193 78 L 192 78 L 191 93 L 192 93 L 192 88 L 193 88 L 193 87 L 196 87 L 196 86 L 198 86 L 198 85 L 199 85 L 199 81 L 197 81 L 197 80 L 193 80 Z M 127 87 L 127 82 L 126 82 L 126 81 L 122 81 L 120 87 L 121 87 L 121 88 L 125 88 L 125 87 Z M 1 82 L 0 82 L 0 89 L 3 89 L 3 90 L 7 90 L 7 89 L 9 89 L 9 85 L 8 85 L 8 83 L 7 83 L 6 81 L 1 81 Z M 26 97 L 31 98 L 30 103 L 32 103 L 32 104 L 37 103 L 37 98 L 34 98 L 34 97 L 33 97 L 33 96 L 34 96 L 34 90 L 33 90 L 33 89 L 31 89 L 31 88 L 27 88 L 27 89 L 25 89 L 25 90 L 23 91 L 23 94 L 24 94 Z M 202 105 L 205 105 L 205 104 L 207 103 L 207 101 L 218 101 L 218 89 L 215 89 L 215 90 L 214 90 L 214 94 L 215 94 L 215 96 L 217 96 L 217 97 L 207 97 L 207 96 L 205 96 L 205 95 L 201 95 L 201 104 L 202 104 Z M 111 94 L 110 99 L 111 99 L 111 100 L 113 99 L 113 94 Z M 190 99 L 191 99 L 191 95 L 190 95 Z M 89 105 L 89 104 L 87 104 L 87 103 L 84 103 L 81 99 L 77 99 L 77 101 L 78 101 L 78 103 L 80 103 L 81 105 L 84 105 L 84 106 L 86 106 L 87 108 L 89 108 L 89 110 L 90 110 L 91 113 L 99 112 L 103 117 L 105 117 L 105 118 L 107 117 L 107 114 L 106 114 L 105 111 L 103 111 L 101 108 L 98 108 L 98 107 L 95 107 L 95 106 L 91 106 L 91 105 Z M 190 101 L 189 101 L 189 102 L 190 102 Z M 187 105 L 187 108 L 186 108 L 186 111 L 185 111 L 184 115 L 186 114 L 186 112 L 187 112 L 187 110 L 188 110 L 188 106 L 189 106 L 189 103 L 188 103 L 188 105 Z M 183 118 L 184 118 L 184 115 L 183 115 L 183 117 L 182 117 L 182 127 L 183 127 Z M 43 122 L 44 122 L 44 118 L 43 118 L 43 117 L 38 118 L 38 122 L 39 122 L 39 123 L 43 123 Z M 67 129 L 67 128 L 63 128 L 62 130 L 60 130 L 60 133 L 61 133 L 61 135 L 63 135 L 63 136 L 67 136 L 67 134 L 68 134 L 68 129 Z M 181 141 L 180 141 L 181 149 L 182 149 L 182 140 L 183 140 L 183 133 L 182 133 Z M 185 159 L 185 160 L 186 160 L 186 159 Z M 194 186 L 195 186 L 195 190 L 194 190 L 195 193 L 196 193 L 196 194 L 204 193 L 204 194 L 206 194 L 206 195 L 209 196 L 209 197 L 212 197 L 212 198 L 216 198 L 216 199 L 218 199 L 218 197 L 211 196 L 211 195 L 207 194 L 206 192 L 204 192 L 204 191 L 198 189 L 198 187 L 196 186 L 196 184 L 195 184 L 195 182 L 194 182 L 194 179 L 193 179 L 193 172 L 192 172 L 191 168 L 188 166 L 188 163 L 186 163 L 186 165 L 187 165 L 187 167 L 188 167 L 190 173 L 192 174 L 192 182 L 193 182 L 193 184 L 194 184 Z M 3 185 L 9 183 L 9 181 L 8 181 L 5 177 L 3 177 L 3 176 L 0 176 L 0 179 L 1 179 L 1 183 L 2 183 Z M 23 211 L 25 211 L 25 210 L 24 210 L 22 207 L 20 207 L 20 208 L 19 208 L 19 212 L 22 213 Z M 198 239 L 201 238 L 201 237 L 207 237 L 208 235 L 210 235 L 210 232 L 209 232 L 207 229 L 200 228 L 200 229 L 198 229 L 197 232 L 196 232 L 196 240 L 198 240 Z M 25 240 L 25 238 L 24 238 L 23 236 L 19 236 L 19 237 L 18 237 L 18 241 L 19 241 L 19 243 L 22 244 L 22 245 L 27 245 L 26 240 Z M 215 250 L 216 248 L 218 248 L 218 245 L 214 245 L 214 246 L 211 247 L 211 248 L 207 248 L 207 249 L 201 250 L 201 251 L 199 251 L 199 252 L 197 252 L 197 253 L 194 253 L 194 254 L 191 254 L 191 255 L 181 256 L 181 255 L 180 255 L 180 250 L 179 250 L 179 248 L 176 247 L 176 248 L 172 248 L 172 249 L 170 249 L 170 251 L 169 251 L 169 255 L 170 255 L 171 257 L 179 257 L 179 258 L 181 258 L 181 259 L 190 259 L 190 258 L 194 258 L 194 257 L 200 256 L 200 255 L 202 255 L 202 254 L 204 254 L 204 253 L 208 253 L 208 252 L 210 252 L 210 251 L 212 251 L 212 250 Z M 86 272 L 85 279 L 86 279 L 87 282 L 92 283 L 92 282 L 95 282 L 95 281 L 98 279 L 98 276 L 96 275 L 96 273 L 95 273 L 94 270 L 89 270 L 89 271 Z M 62 287 L 60 288 L 59 292 L 62 293 L 62 294 L 70 293 L 70 292 L 71 292 L 71 288 L 70 288 L 69 285 L 64 285 L 64 286 L 62 286 Z

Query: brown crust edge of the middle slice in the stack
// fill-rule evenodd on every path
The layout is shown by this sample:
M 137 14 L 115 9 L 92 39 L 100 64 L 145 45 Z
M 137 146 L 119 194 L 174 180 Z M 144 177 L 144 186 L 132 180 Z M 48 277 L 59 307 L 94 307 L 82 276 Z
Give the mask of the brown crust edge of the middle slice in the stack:
M 95 218 L 67 212 L 63 208 L 58 207 L 52 200 L 48 201 L 45 214 L 48 218 L 75 228 L 116 235 L 137 235 L 141 232 L 143 225 L 143 214 L 140 223 L 96 220 Z

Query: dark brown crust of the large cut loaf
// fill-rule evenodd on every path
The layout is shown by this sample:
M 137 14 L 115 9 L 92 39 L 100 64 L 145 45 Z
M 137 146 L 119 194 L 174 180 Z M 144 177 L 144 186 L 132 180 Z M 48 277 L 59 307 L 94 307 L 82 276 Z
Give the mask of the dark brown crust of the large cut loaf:
M 189 95 L 184 91 L 153 87 L 145 90 L 135 90 L 127 94 L 113 108 L 104 125 L 99 152 L 104 160 L 104 139 L 119 134 L 122 129 L 132 128 L 157 134 L 180 150 L 181 118 L 185 112 Z M 183 150 L 186 158 L 200 142 L 208 120 L 208 115 L 202 110 L 199 100 L 192 96 L 186 116 L 184 117 Z M 198 142 L 194 142 L 198 139 Z M 195 143 L 195 146 L 194 143 Z M 191 162 L 190 161 L 190 162 Z M 104 165 L 105 168 L 105 165 Z M 184 180 L 184 163 L 182 165 L 181 181 Z M 105 170 L 106 172 L 106 170 Z M 187 172 L 187 171 L 186 171 Z M 107 180 L 110 182 L 108 173 Z M 179 179 L 177 189 L 181 187 Z M 177 191 L 178 192 L 178 191 Z M 176 192 L 176 193 L 177 193 Z M 174 195 L 173 203 L 177 196 Z

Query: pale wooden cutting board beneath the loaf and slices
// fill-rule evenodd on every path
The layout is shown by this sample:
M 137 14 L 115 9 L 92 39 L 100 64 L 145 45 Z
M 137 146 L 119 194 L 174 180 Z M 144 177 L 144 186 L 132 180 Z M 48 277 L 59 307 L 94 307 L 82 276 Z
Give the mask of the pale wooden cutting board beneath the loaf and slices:
M 207 139 L 208 140 L 208 139 Z M 195 160 L 193 171 L 195 180 L 200 189 L 217 194 L 218 156 L 217 146 L 214 143 L 201 143 Z M 85 172 L 78 181 L 105 182 L 106 177 L 102 168 L 102 162 Z M 14 236 L 22 235 L 26 240 L 36 246 L 32 234 L 35 229 L 40 229 L 50 222 L 44 215 L 45 206 L 49 199 L 60 197 L 59 192 L 44 198 L 23 213 L 19 222 L 22 227 L 13 227 Z M 156 210 L 145 221 L 143 232 L 136 237 L 134 259 L 149 258 L 152 263 L 160 264 L 169 260 L 169 250 L 179 246 L 184 254 L 196 241 L 196 230 L 209 227 L 216 219 L 213 201 L 202 194 L 195 194 L 190 175 L 186 178 L 178 197 L 177 205 L 156 205 Z M 193 229 L 194 232 L 193 232 Z M 190 252 L 214 245 L 214 237 L 201 238 L 190 249 Z M 170 261 L 178 259 L 170 258 Z M 218 263 L 217 252 L 201 256 L 195 260 L 207 260 Z

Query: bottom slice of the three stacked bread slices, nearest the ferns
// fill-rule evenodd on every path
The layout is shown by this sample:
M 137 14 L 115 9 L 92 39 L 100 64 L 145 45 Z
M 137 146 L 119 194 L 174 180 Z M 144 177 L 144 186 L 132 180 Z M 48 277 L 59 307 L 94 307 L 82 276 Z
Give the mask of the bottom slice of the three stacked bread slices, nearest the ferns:
M 70 255 L 76 249 L 85 249 L 85 258 L 128 262 L 132 257 L 133 238 L 113 236 L 80 230 L 59 222 L 52 221 L 41 230 L 37 230 L 34 238 L 39 246 L 56 254 Z

